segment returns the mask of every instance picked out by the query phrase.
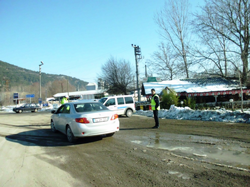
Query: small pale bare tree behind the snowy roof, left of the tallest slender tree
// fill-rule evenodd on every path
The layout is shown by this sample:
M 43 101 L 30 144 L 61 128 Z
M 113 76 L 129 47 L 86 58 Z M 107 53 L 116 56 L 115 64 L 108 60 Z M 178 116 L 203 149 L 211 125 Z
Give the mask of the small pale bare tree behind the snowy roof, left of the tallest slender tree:
M 164 79 L 173 80 L 177 73 L 177 56 L 173 54 L 169 45 L 164 43 L 158 46 L 159 51 L 155 52 L 150 60 L 150 67 Z

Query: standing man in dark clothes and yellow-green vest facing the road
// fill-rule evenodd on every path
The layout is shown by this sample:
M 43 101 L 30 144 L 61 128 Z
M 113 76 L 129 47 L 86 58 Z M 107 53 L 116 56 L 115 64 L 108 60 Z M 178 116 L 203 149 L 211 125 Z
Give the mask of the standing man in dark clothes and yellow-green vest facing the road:
M 159 125 L 159 118 L 158 118 L 158 111 L 160 110 L 160 101 L 159 96 L 155 93 L 155 89 L 151 89 L 152 98 L 151 98 L 151 108 L 154 113 L 154 119 L 155 119 L 155 126 L 154 129 L 158 129 L 160 127 Z

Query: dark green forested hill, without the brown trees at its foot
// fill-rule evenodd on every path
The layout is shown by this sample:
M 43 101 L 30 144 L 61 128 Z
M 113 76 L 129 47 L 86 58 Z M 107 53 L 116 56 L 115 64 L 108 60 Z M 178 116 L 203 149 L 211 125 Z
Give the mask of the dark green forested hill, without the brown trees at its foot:
M 88 84 L 88 82 L 67 75 L 42 73 L 41 85 L 44 87 L 49 82 L 63 79 L 68 80 L 69 84 L 79 90 L 85 90 L 85 86 Z M 24 69 L 0 60 L 0 90 L 6 86 L 8 88 L 20 85 L 30 86 L 36 82 L 39 82 L 38 71 Z

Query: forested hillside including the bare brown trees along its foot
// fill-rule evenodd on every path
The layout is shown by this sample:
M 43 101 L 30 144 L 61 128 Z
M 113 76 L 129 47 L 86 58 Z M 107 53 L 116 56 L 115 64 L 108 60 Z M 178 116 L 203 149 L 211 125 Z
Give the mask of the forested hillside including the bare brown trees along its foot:
M 86 90 L 88 82 L 66 75 L 42 73 L 41 97 L 45 100 L 56 93 Z M 27 94 L 34 94 L 32 102 L 40 97 L 39 72 L 20 68 L 0 61 L 0 105 L 12 104 L 13 93 L 19 98 L 26 98 Z

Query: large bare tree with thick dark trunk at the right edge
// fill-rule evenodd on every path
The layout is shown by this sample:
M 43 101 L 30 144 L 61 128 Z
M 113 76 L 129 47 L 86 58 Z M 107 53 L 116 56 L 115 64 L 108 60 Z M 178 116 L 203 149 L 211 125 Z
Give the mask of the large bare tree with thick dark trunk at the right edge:
M 247 81 L 249 60 L 249 0 L 209 0 L 196 15 L 196 26 L 200 30 L 215 32 L 231 43 L 231 51 L 242 61 L 242 83 Z M 223 29 L 222 29 L 223 28 Z M 237 62 L 231 62 L 239 68 Z

